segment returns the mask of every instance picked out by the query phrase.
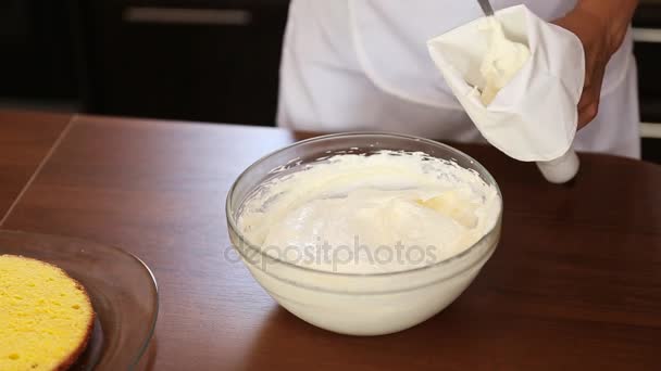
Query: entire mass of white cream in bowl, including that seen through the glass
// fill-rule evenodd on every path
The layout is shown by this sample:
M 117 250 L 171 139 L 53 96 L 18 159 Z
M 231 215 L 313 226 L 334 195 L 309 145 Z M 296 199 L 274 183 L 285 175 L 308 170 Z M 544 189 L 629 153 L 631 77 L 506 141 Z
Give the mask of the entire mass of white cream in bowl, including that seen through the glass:
M 422 152 L 330 151 L 267 174 L 265 157 L 235 184 L 242 189 L 258 174 L 266 179 L 238 199 L 230 222 L 250 272 L 290 312 L 345 334 L 392 333 L 442 310 L 477 276 L 500 236 L 500 193 L 478 164 L 431 141 L 375 138 L 457 156 L 481 172 Z M 341 140 L 320 139 L 328 146 Z M 275 153 L 273 162 L 319 145 L 314 141 Z M 229 203 L 228 212 L 234 207 Z

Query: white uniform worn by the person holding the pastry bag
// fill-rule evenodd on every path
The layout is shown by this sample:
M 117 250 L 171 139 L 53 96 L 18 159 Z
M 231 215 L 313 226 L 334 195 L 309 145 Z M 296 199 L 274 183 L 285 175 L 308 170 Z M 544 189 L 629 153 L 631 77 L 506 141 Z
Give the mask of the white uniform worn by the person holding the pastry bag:
M 551 21 L 575 1 L 491 3 L 495 9 L 525 3 Z M 476 0 L 292 0 L 280 64 L 278 126 L 484 141 L 426 48 L 427 39 L 478 16 Z M 599 114 L 577 132 L 576 150 L 640 156 L 632 52 L 629 31 L 608 64 Z

